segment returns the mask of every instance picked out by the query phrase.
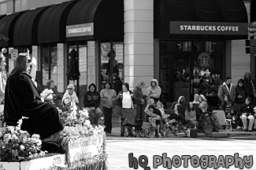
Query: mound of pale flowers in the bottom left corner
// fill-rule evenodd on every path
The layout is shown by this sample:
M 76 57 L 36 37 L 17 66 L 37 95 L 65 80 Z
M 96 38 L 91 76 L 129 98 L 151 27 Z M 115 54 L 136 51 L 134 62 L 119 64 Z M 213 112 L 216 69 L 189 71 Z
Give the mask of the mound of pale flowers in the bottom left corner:
M 20 129 L 22 119 L 17 126 L 0 128 L 0 161 L 28 161 L 43 157 L 46 151 L 42 151 L 42 141 L 39 135 L 30 136 L 27 131 Z

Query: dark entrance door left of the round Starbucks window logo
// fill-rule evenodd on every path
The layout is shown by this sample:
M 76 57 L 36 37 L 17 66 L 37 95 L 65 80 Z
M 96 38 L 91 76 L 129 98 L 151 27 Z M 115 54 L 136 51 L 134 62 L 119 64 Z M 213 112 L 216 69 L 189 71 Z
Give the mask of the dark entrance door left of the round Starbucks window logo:
M 161 47 L 165 45 L 169 48 L 161 50 L 161 98 L 174 102 L 179 96 L 184 96 L 188 101 L 192 92 L 190 75 L 193 55 L 191 51 L 183 49 L 183 46 L 187 46 L 184 42 L 161 42 Z

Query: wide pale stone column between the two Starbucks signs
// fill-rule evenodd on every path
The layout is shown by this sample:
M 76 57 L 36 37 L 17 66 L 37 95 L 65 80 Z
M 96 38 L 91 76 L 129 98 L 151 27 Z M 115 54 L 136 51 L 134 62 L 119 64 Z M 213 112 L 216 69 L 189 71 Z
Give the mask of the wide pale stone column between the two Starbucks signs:
M 124 81 L 154 78 L 154 0 L 124 0 Z M 143 89 L 143 91 L 145 90 Z

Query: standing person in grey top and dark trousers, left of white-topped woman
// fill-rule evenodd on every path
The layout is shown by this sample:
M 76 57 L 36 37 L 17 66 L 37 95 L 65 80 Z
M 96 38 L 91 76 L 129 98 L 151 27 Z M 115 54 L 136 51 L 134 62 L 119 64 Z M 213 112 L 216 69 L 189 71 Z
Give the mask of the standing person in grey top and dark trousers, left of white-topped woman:
M 106 126 L 105 132 L 111 133 L 112 131 L 112 114 L 113 114 L 113 100 L 116 99 L 117 93 L 112 89 L 109 81 L 105 84 L 105 89 L 100 92 L 102 99 L 102 108 L 104 114 L 104 125 Z

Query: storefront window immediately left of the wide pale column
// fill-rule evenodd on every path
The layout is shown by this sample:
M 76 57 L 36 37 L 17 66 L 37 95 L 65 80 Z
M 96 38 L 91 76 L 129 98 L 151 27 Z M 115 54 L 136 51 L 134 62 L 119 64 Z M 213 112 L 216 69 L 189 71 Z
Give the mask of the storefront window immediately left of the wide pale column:
M 111 49 L 113 49 L 111 51 Z M 102 88 L 106 81 L 113 81 L 113 74 L 117 74 L 124 81 L 124 45 L 123 42 L 101 43 L 101 81 Z

